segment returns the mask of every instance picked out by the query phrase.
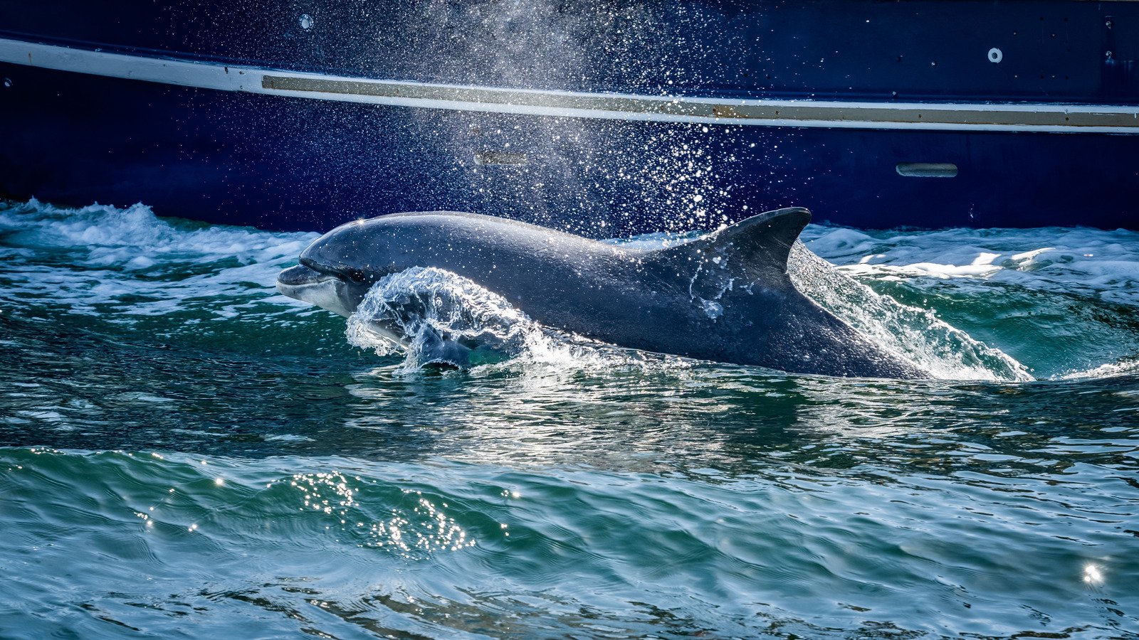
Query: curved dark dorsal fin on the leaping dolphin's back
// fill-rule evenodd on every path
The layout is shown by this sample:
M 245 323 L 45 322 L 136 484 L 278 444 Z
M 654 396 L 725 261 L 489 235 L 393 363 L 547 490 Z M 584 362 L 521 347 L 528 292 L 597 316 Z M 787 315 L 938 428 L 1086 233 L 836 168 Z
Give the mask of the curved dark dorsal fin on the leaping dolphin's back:
M 769 211 L 656 253 L 661 260 L 678 266 L 680 262 L 719 257 L 730 261 L 734 269 L 743 268 L 756 274 L 784 274 L 790 247 L 810 221 L 811 212 L 803 207 Z

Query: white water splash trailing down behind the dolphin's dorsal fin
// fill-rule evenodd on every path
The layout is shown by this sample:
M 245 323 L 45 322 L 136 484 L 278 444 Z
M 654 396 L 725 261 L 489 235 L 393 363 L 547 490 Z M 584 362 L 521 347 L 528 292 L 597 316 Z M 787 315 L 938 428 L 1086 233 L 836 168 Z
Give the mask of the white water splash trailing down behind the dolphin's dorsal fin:
M 795 241 L 787 272 L 808 297 L 878 346 L 944 379 L 1027 381 L 1023 364 L 969 337 L 932 311 L 901 304 L 837 271 Z

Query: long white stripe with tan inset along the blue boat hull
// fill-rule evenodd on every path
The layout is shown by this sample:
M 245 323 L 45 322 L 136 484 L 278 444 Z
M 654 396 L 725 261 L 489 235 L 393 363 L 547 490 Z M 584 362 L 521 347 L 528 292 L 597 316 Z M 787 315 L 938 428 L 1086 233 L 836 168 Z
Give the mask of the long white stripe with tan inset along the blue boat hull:
M 9 39 L 0 39 L 0 61 L 198 89 L 464 112 L 761 126 L 1139 133 L 1136 106 L 885 104 L 538 91 L 273 71 Z

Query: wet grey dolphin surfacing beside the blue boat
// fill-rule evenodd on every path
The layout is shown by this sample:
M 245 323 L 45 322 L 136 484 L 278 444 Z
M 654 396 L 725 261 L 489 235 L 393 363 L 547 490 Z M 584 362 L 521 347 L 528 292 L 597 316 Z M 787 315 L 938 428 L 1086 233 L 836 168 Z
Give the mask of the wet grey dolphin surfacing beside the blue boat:
M 285 295 L 350 315 L 379 278 L 451 271 L 534 320 L 623 347 L 796 374 L 927 378 L 800 293 L 787 276 L 805 208 L 638 249 L 470 213 L 398 213 L 325 233 L 278 277 Z

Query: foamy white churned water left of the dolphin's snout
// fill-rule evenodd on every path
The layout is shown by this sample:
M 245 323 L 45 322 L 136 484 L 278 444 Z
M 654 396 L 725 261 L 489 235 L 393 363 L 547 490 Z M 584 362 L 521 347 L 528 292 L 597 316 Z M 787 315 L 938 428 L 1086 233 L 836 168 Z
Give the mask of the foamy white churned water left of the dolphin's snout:
M 50 297 L 73 313 L 125 322 L 206 301 L 218 319 L 265 301 L 304 310 L 273 284 L 317 237 L 167 221 L 141 204 L 65 208 L 34 198 L 0 203 L 0 252 L 30 263 L 6 274 L 0 295 Z M 66 255 L 71 268 L 47 265 L 52 254 Z

